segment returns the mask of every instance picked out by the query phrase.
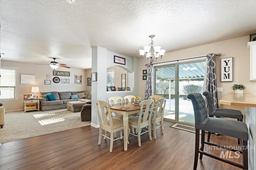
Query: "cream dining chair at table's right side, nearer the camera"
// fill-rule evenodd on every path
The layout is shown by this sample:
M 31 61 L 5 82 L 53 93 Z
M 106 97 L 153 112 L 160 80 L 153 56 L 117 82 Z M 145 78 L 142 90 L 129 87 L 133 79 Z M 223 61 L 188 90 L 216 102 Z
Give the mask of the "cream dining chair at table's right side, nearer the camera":
M 143 109 L 144 105 L 146 105 L 146 109 Z M 128 118 L 129 126 L 132 128 L 138 129 L 137 134 L 131 133 L 131 135 L 138 137 L 139 147 L 141 146 L 140 135 L 148 132 L 149 139 L 150 139 L 150 141 L 152 140 L 151 117 L 152 117 L 153 107 L 154 107 L 154 101 L 152 99 L 144 100 L 144 101 L 140 102 L 140 115 Z M 145 128 L 145 127 L 148 127 L 148 128 Z M 144 132 L 142 132 L 141 130 Z

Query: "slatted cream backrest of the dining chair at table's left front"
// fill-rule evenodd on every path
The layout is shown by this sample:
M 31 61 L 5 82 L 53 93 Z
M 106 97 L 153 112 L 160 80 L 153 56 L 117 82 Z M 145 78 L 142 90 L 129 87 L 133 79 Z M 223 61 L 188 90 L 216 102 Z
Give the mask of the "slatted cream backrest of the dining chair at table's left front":
M 111 104 L 106 101 L 102 101 L 102 100 L 97 101 L 96 109 L 97 109 L 97 113 L 100 121 L 100 126 L 104 126 L 104 127 L 113 126 L 112 114 L 108 114 L 108 113 L 111 113 L 110 107 L 111 107 Z

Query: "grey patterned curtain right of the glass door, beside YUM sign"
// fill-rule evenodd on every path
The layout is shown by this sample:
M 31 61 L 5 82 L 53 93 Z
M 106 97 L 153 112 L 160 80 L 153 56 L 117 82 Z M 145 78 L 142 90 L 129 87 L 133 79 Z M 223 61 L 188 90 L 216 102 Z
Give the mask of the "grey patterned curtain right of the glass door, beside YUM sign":
M 207 71 L 206 71 L 206 88 L 205 91 L 210 92 L 214 99 L 215 108 L 219 108 L 217 96 L 217 82 L 216 82 L 216 64 L 215 53 L 207 55 Z

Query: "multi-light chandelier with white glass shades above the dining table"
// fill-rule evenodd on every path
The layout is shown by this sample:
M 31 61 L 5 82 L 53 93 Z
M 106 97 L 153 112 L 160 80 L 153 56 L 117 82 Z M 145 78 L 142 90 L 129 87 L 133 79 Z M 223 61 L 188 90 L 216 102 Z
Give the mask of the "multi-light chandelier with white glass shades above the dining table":
M 149 37 L 151 38 L 150 46 L 145 46 L 144 50 L 139 50 L 139 51 L 140 51 L 141 59 L 145 58 L 151 64 L 154 60 L 157 60 L 159 57 L 161 57 L 162 59 L 165 50 L 160 50 L 161 48 L 160 46 L 153 47 L 154 45 L 153 38 L 155 37 L 155 35 L 149 35 Z

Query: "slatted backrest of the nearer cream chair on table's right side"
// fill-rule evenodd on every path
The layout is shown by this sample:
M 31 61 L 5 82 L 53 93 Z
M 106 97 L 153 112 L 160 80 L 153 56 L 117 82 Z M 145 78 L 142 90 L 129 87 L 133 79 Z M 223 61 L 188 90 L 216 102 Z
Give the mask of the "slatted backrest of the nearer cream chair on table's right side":
M 145 109 L 144 109 L 144 105 L 146 105 Z M 143 100 L 142 102 L 140 102 L 140 115 L 138 120 L 140 124 L 145 124 L 148 121 L 149 122 L 151 121 L 153 108 L 154 108 L 153 99 Z

